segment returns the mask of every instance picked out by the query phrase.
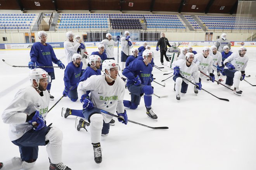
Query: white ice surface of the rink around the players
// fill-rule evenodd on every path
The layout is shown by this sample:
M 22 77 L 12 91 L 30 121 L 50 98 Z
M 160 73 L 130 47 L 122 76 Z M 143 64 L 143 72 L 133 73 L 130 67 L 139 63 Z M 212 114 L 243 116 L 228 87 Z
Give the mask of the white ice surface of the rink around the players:
M 155 65 L 161 67 L 160 52 L 155 51 L 155 47 L 152 49 Z M 238 49 L 232 47 L 232 52 L 238 52 Z M 194 47 L 193 50 L 201 53 L 202 47 Z M 0 50 L 1 115 L 17 91 L 30 85 L 28 68 L 11 67 L 3 63 L 2 59 L 12 65 L 27 66 L 30 61 L 29 51 Z M 54 51 L 66 66 L 64 49 Z M 92 53 L 97 48 L 87 48 L 87 51 Z M 117 51 L 115 48 L 116 59 Z M 256 85 L 256 48 L 247 47 L 246 56 L 249 57 L 246 75 L 251 77 L 245 79 Z M 152 96 L 152 108 L 158 121 L 147 117 L 143 99 L 138 109 L 125 109 L 130 120 L 153 127 L 168 126 L 169 129 L 149 129 L 130 122 L 124 125 L 114 118 L 115 126 L 110 127 L 108 136 L 102 137 L 102 163 L 98 165 L 93 159 L 90 134 L 84 129 L 75 129 L 76 117 L 61 117 L 62 107 L 82 109 L 80 101 L 71 102 L 66 97 L 48 113 L 46 119 L 47 125 L 53 123 L 64 134 L 62 162 L 72 170 L 255 170 L 256 87 L 242 81 L 239 89 L 243 93 L 237 96 L 222 85 L 203 78 L 202 88 L 230 101 L 219 100 L 203 90 L 196 96 L 194 86 L 189 84 L 186 95 L 177 102 L 172 78 L 161 82 L 172 75 L 163 75 L 171 72 L 165 59 L 161 70 L 153 68 L 152 71 L 156 82 L 166 83 L 163 87 L 152 82 L 154 93 L 158 96 L 168 95 L 165 98 Z M 62 96 L 63 76 L 64 70 L 55 68 L 56 79 L 51 89 L 55 99 L 50 101 L 49 108 Z M 130 100 L 127 89 L 125 100 Z M 9 140 L 8 126 L 0 121 L 0 162 L 20 156 L 18 146 Z M 46 147 L 40 146 L 38 159 L 31 170 L 48 168 Z

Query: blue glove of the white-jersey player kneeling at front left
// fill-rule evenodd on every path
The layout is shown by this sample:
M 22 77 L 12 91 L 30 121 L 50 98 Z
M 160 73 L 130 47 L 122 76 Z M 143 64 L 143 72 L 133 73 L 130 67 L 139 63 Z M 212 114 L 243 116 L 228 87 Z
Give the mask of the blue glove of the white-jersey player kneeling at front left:
M 36 110 L 35 112 L 33 112 L 29 116 L 27 116 L 26 122 L 29 122 L 29 124 L 31 124 L 31 126 L 33 126 L 33 129 L 35 131 L 39 131 L 44 126 L 46 126 L 45 121 L 43 120 L 43 117 L 38 110 Z M 36 124 L 34 122 L 36 122 Z

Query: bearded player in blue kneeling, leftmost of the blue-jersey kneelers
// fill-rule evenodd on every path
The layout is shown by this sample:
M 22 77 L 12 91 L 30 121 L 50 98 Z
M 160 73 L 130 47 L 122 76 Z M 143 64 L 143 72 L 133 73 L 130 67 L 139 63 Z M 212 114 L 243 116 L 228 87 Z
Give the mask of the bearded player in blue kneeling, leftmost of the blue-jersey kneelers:
M 73 54 L 73 61 L 67 64 L 64 71 L 64 97 L 69 97 L 69 99 L 75 102 L 78 99 L 77 95 L 77 83 L 80 80 L 80 76 L 83 75 L 85 70 L 82 70 L 83 63 L 81 62 L 82 56 L 80 54 Z

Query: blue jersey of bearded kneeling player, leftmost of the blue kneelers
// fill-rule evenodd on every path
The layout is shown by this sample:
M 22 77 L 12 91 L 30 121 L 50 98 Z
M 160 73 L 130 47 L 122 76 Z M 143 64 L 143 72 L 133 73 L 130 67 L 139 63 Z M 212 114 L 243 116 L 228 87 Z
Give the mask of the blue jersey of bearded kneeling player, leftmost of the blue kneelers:
M 67 89 L 73 90 L 77 87 L 76 84 L 79 83 L 82 67 L 82 62 L 79 67 L 76 67 L 73 64 L 73 61 L 67 64 L 67 67 L 64 71 L 64 84 Z

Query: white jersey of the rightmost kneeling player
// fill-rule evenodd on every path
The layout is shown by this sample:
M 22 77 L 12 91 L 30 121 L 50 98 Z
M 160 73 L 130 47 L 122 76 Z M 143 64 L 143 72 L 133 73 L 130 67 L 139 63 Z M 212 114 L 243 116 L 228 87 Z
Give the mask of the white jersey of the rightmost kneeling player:
M 223 63 L 231 63 L 233 66 L 235 66 L 235 70 L 245 71 L 248 60 L 249 58 L 247 56 L 241 57 L 239 53 L 232 53 L 228 58 L 223 61 Z M 225 66 L 224 69 L 228 69 L 227 66 Z

